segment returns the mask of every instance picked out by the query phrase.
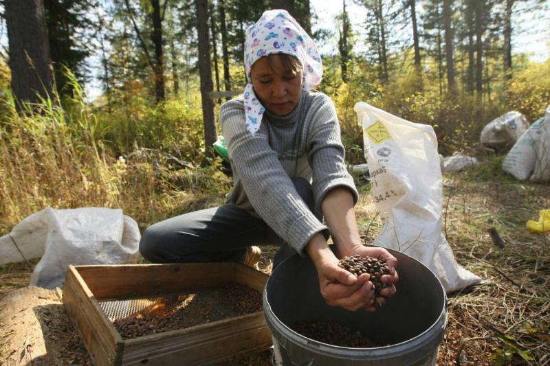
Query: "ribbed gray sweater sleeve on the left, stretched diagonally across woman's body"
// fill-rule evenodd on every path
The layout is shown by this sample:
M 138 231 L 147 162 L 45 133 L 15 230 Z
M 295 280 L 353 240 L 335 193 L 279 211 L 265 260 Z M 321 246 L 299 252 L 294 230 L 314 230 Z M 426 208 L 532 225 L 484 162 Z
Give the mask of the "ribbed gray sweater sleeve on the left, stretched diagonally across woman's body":
M 231 100 L 220 110 L 221 128 L 236 175 L 252 207 L 267 225 L 300 255 L 311 238 L 327 227 L 299 196 L 267 141 L 265 124 L 252 135 L 245 128 L 242 101 Z

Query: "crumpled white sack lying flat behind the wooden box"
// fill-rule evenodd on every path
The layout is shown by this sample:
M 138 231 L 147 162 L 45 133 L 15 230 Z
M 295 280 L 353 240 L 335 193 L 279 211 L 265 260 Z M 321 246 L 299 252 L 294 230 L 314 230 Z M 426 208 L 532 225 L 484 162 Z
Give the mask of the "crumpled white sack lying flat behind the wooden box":
M 0 264 L 41 257 L 30 284 L 61 287 L 69 264 L 131 262 L 140 238 L 137 223 L 122 209 L 48 207 L 0 238 Z

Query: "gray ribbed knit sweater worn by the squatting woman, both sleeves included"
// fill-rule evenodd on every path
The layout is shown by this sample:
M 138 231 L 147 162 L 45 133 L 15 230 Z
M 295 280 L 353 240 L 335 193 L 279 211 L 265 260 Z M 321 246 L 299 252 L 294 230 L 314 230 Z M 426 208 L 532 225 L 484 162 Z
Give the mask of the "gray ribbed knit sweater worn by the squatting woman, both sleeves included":
M 220 121 L 233 170 L 228 202 L 263 218 L 300 255 L 311 237 L 328 228 L 308 209 L 291 178 L 311 182 L 318 211 L 325 194 L 337 186 L 349 187 L 357 202 L 336 108 L 327 95 L 303 91 L 288 115 L 266 111 L 254 135 L 245 128 L 242 97 L 221 106 Z

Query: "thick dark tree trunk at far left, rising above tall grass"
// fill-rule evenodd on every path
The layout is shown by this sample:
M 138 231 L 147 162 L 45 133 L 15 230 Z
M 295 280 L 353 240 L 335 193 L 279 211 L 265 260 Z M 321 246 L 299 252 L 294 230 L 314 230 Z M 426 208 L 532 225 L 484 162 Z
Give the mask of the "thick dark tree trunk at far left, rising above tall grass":
M 3 5 L 8 27 L 8 65 L 17 108 L 21 108 L 23 101 L 39 102 L 38 95 L 53 99 L 50 46 L 42 0 L 5 0 Z

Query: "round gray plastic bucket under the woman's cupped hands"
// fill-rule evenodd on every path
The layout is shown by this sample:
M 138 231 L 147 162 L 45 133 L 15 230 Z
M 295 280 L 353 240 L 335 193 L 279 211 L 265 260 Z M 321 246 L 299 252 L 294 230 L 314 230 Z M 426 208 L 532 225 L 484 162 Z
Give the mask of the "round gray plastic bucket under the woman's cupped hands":
M 447 297 L 430 269 L 389 250 L 399 261 L 397 293 L 375 312 L 351 312 L 322 299 L 314 264 L 294 255 L 277 268 L 263 292 L 274 341 L 274 363 L 292 366 L 435 365 L 447 323 Z M 289 328 L 296 321 L 332 320 L 360 330 L 384 347 L 351 348 L 309 339 Z

